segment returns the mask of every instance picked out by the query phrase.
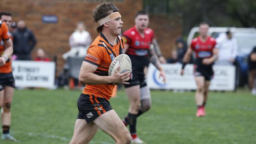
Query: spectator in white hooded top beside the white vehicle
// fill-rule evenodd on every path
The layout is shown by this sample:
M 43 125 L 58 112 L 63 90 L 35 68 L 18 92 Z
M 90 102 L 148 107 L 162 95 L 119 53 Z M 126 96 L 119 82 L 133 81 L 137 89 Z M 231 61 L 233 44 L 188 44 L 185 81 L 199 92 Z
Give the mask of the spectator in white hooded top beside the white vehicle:
M 216 39 L 219 48 L 218 65 L 233 65 L 237 55 L 237 41 L 228 30 L 226 34 L 220 35 Z

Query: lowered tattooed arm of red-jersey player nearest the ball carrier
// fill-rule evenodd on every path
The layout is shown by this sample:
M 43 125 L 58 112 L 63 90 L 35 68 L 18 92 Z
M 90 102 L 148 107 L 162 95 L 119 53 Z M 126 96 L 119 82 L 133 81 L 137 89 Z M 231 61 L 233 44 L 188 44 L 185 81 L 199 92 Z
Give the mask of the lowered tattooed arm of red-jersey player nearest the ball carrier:
M 150 62 L 156 66 L 156 68 L 160 71 L 160 75 L 159 77 L 163 77 L 163 81 L 165 82 L 166 78 L 165 78 L 165 73 L 163 72 L 163 68 L 161 67 L 161 64 L 158 60 L 158 57 L 155 53 L 155 50 L 154 50 L 154 47 L 151 45 L 150 48 L 149 48 L 149 52 L 148 52 L 148 55 L 150 57 Z

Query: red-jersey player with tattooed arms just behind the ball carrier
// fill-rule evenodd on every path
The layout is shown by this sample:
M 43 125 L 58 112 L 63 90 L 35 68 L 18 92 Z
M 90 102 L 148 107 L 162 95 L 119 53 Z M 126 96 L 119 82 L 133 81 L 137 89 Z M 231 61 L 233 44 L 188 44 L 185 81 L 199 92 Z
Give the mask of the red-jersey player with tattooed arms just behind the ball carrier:
M 148 23 L 148 14 L 145 11 L 139 11 L 135 16 L 135 26 L 122 34 L 125 42 L 124 51 L 132 61 L 132 73 L 128 81 L 130 84 L 124 85 L 130 108 L 123 122 L 130 126 L 133 143 L 143 143 L 136 134 L 137 116 L 148 111 L 151 106 L 150 90 L 145 82 L 144 74 L 144 68 L 149 61 L 160 70 L 160 76 L 165 80 L 165 74 L 152 47 L 155 41 L 154 31 L 147 28 Z

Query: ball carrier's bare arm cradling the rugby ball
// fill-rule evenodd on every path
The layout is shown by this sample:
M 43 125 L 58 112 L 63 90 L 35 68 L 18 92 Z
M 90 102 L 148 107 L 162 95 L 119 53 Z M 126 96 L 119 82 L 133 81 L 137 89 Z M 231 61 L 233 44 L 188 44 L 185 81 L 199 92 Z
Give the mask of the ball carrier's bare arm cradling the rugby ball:
M 130 79 L 130 72 L 124 72 L 120 74 L 119 68 L 114 72 L 112 76 L 98 76 L 94 74 L 98 66 L 92 65 L 91 63 L 83 61 L 80 73 L 79 73 L 79 82 L 89 85 L 99 85 L 99 84 L 108 84 L 108 83 L 123 83 L 129 84 L 125 81 Z

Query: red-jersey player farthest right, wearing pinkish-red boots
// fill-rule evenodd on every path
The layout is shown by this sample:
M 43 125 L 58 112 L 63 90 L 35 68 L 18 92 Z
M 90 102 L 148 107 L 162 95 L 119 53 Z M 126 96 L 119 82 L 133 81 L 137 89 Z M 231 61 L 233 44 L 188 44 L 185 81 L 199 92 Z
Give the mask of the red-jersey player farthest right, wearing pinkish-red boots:
M 208 36 L 209 25 L 201 23 L 199 25 L 199 36 L 192 40 L 190 47 L 187 49 L 183 58 L 181 75 L 184 73 L 184 67 L 189 62 L 191 54 L 195 51 L 195 81 L 197 91 L 195 100 L 197 104 L 196 116 L 205 116 L 205 105 L 208 98 L 208 89 L 210 81 L 213 78 L 213 63 L 218 57 L 218 49 L 215 48 L 216 41 L 213 37 Z

